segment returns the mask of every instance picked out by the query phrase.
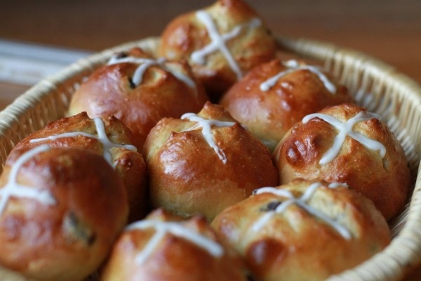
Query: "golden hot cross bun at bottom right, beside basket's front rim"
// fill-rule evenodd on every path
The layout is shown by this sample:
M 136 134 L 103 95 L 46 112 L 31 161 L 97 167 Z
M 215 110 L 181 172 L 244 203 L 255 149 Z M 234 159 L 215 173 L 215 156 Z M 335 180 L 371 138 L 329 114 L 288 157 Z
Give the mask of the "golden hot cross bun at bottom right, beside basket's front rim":
M 256 190 L 211 226 L 262 281 L 325 280 L 390 242 L 373 202 L 343 184 L 302 179 Z

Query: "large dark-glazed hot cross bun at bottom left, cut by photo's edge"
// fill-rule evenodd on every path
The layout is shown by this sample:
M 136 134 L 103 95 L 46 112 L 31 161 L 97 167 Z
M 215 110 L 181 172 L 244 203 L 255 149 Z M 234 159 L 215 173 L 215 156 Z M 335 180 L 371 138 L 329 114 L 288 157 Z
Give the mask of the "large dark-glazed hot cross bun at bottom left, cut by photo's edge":
M 83 280 L 126 225 L 126 196 L 112 167 L 89 150 L 15 150 L 0 176 L 0 275 Z

